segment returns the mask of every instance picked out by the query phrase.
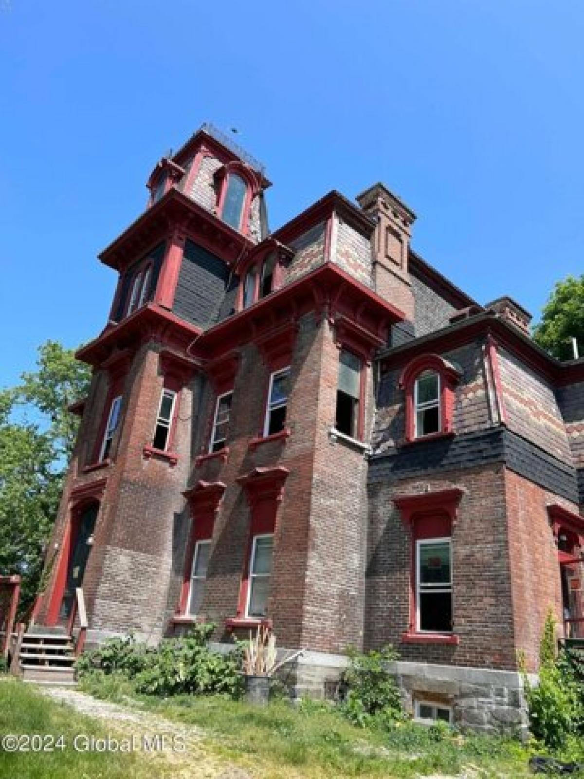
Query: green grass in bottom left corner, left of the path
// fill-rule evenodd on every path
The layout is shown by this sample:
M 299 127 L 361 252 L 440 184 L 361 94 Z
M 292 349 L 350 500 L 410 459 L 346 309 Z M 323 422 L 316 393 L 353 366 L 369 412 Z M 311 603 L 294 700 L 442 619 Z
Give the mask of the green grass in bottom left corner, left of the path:
M 142 754 L 76 751 L 78 734 L 106 736 L 104 724 L 53 703 L 33 687 L 0 676 L 0 737 L 7 734 L 63 736 L 65 748 L 53 752 L 6 752 L 0 748 L 0 777 L 6 779 L 154 779 L 158 765 Z M 80 745 L 83 746 L 83 745 Z

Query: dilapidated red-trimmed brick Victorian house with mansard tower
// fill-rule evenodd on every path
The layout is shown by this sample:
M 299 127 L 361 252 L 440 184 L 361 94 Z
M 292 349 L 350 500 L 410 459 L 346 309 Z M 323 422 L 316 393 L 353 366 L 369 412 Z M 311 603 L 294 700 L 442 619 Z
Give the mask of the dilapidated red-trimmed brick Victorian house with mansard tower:
M 521 726 L 518 651 L 537 671 L 549 608 L 584 630 L 584 361 L 428 265 L 384 185 L 274 232 L 269 185 L 204 126 L 101 252 L 37 623 L 70 627 L 81 586 L 93 642 L 269 622 L 315 694 L 392 643 L 417 716 Z

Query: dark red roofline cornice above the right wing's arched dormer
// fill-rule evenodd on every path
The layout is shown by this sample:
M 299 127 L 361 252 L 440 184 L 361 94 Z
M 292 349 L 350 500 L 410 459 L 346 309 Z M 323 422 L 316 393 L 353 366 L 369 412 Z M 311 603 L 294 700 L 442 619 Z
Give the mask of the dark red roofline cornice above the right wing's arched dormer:
M 521 358 L 529 368 L 533 368 L 557 386 L 584 381 L 584 360 L 573 363 L 559 362 L 538 347 L 533 340 L 505 323 L 505 320 L 487 312 L 396 347 L 382 356 L 381 365 L 385 370 L 402 368 L 419 354 L 427 354 L 428 351 L 449 352 L 470 344 L 479 337 L 486 338 L 489 334 L 496 337 L 500 346 Z

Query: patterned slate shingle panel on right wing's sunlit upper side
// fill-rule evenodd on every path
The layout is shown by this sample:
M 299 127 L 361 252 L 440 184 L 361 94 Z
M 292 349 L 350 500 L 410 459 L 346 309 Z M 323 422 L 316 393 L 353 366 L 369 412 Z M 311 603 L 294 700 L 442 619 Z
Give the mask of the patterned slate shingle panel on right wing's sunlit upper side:
M 554 388 L 515 355 L 501 348 L 499 365 L 509 429 L 559 460 L 572 464 L 568 435 Z

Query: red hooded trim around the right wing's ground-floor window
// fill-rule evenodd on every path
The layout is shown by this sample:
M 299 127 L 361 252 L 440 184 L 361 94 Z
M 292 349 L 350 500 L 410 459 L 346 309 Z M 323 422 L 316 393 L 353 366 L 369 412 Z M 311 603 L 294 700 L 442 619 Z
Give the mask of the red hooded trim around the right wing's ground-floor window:
M 398 495 L 393 499 L 402 521 L 410 530 L 410 622 L 402 634 L 405 643 L 459 643 L 452 633 L 420 633 L 417 630 L 417 541 L 452 538 L 458 519 L 459 502 L 464 491 L 458 487 Z M 451 560 L 452 564 L 452 560 Z

